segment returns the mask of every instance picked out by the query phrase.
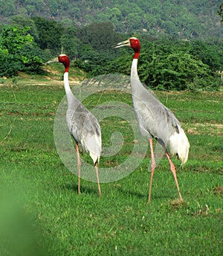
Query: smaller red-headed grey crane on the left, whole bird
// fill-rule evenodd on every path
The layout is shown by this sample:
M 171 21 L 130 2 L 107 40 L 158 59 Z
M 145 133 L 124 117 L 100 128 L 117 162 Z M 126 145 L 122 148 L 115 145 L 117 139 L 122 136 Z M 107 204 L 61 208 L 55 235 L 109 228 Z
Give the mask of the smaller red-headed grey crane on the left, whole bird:
M 77 150 L 77 165 L 78 165 L 78 193 L 80 194 L 80 151 L 79 145 L 83 149 L 83 152 L 90 154 L 91 159 L 94 163 L 94 168 L 97 175 L 97 186 L 99 196 L 101 196 L 100 181 L 98 175 L 98 163 L 101 154 L 101 131 L 100 124 L 95 116 L 80 102 L 76 99 L 74 94 L 71 92 L 71 87 L 68 80 L 68 72 L 70 67 L 70 59 L 65 54 L 59 54 L 54 60 L 48 61 L 60 62 L 65 66 L 64 72 L 64 87 L 65 94 L 68 99 L 68 109 L 66 111 L 66 122 L 68 130 L 71 136 L 74 137 Z

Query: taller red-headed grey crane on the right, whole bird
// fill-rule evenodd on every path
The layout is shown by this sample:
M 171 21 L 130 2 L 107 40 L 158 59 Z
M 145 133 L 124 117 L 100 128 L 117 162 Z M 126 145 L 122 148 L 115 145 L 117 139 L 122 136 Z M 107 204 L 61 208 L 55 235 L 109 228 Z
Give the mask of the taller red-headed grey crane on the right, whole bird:
M 153 138 L 164 148 L 164 152 L 169 160 L 170 169 L 175 179 L 175 184 L 178 189 L 178 195 L 183 202 L 181 192 L 178 186 L 178 180 L 175 172 L 175 166 L 169 157 L 167 148 L 169 148 L 170 154 L 177 155 L 184 164 L 187 162 L 188 153 L 190 149 L 190 143 L 187 139 L 184 130 L 181 128 L 181 124 L 175 115 L 164 106 L 158 99 L 149 93 L 141 84 L 138 77 L 138 57 L 140 55 L 140 41 L 138 38 L 131 37 L 129 40 L 118 43 L 115 48 L 122 46 L 129 46 L 135 51 L 134 58 L 132 60 L 131 68 L 131 90 L 132 90 L 132 102 L 135 109 L 135 114 L 138 119 L 138 125 L 140 132 L 143 136 L 149 138 L 149 145 L 151 151 L 151 178 L 149 184 L 149 197 L 148 202 L 151 201 L 152 191 L 152 178 L 155 172 L 155 154 L 153 150 Z

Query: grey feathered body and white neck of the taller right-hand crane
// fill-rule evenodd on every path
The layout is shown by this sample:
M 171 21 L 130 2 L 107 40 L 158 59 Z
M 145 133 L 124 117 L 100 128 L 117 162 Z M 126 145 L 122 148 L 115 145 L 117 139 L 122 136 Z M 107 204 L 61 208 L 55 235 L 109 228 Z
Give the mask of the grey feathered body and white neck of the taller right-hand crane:
M 149 139 L 154 137 L 184 164 L 189 152 L 187 136 L 174 113 L 140 83 L 137 62 L 138 59 L 132 62 L 131 90 L 140 132 Z

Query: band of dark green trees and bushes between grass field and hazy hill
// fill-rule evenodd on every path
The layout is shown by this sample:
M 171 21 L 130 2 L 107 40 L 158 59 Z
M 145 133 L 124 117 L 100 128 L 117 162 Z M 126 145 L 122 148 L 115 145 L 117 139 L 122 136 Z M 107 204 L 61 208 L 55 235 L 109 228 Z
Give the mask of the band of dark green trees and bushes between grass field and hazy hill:
M 19 21 L 20 28 L 2 29 L 1 76 L 13 76 L 18 71 L 38 73 L 42 60 L 58 55 L 60 46 L 71 59 L 75 59 L 75 66 L 88 72 L 88 76 L 114 72 L 130 74 L 132 50 L 112 49 L 112 45 L 126 36 L 115 33 L 110 22 L 94 23 L 85 28 L 67 26 L 63 30 L 56 22 L 35 17 L 33 42 L 28 33 L 30 28 L 22 27 L 25 20 Z M 45 31 L 46 27 L 48 31 Z M 222 40 L 190 42 L 170 37 L 161 40 L 140 37 L 140 40 L 138 72 L 140 80 L 149 87 L 155 90 L 218 90 L 221 86 L 216 71 L 222 70 L 223 66 Z

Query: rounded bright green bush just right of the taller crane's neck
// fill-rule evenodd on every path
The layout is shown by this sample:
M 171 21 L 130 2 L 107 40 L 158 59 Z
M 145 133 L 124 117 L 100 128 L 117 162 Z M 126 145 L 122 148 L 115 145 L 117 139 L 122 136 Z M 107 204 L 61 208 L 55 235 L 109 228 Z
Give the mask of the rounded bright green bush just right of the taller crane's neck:
M 208 66 L 201 60 L 193 59 L 190 54 L 178 52 L 164 57 L 159 55 L 154 59 L 153 65 L 149 66 L 149 70 L 144 69 L 141 76 L 146 84 L 158 90 L 186 90 L 196 79 L 205 80 L 207 72 Z

